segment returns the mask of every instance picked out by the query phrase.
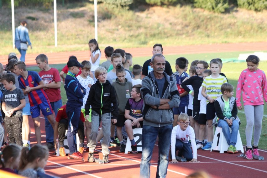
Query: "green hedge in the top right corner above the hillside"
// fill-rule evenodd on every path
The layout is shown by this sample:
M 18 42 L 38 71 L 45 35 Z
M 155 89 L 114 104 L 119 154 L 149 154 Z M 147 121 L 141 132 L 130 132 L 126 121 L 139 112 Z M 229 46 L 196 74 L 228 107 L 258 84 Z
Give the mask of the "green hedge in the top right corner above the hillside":
M 254 11 L 267 9 L 267 0 L 237 0 L 238 7 Z

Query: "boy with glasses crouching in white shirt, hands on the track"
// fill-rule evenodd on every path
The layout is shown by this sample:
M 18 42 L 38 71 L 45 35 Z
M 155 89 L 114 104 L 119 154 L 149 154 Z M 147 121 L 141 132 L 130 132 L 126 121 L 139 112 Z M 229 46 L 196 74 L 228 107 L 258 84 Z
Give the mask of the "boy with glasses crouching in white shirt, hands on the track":
M 196 159 L 196 141 L 194 129 L 189 126 L 189 116 L 182 113 L 178 117 L 177 126 L 171 132 L 171 163 L 177 163 L 175 159 L 176 151 L 179 151 L 178 156 L 186 158 L 190 162 L 200 162 Z M 189 140 L 193 149 L 190 148 Z

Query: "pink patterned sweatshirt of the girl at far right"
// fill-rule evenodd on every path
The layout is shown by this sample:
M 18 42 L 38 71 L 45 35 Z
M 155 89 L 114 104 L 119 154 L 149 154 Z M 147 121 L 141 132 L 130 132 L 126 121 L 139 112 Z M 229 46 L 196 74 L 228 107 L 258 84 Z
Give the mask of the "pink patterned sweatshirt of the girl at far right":
M 244 105 L 262 105 L 264 104 L 263 98 L 267 102 L 267 80 L 264 71 L 259 69 L 256 71 L 243 70 L 236 88 L 237 106 L 242 106 L 241 92 Z

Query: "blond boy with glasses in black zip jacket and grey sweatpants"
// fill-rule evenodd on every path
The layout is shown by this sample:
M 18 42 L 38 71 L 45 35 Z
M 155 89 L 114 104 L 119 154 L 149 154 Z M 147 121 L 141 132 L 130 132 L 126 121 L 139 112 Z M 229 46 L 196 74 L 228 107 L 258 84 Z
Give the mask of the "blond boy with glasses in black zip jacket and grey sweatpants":
M 92 163 L 94 159 L 94 150 L 97 146 L 97 133 L 100 122 L 102 121 L 103 141 L 102 153 L 103 161 L 108 163 L 109 145 L 110 145 L 110 126 L 117 123 L 118 104 L 114 86 L 107 80 L 107 70 L 104 67 L 97 67 L 95 70 L 97 82 L 91 86 L 85 105 L 85 117 L 89 118 L 90 106 L 92 106 L 92 130 L 89 136 L 88 162 Z M 111 105 L 113 104 L 113 106 Z M 111 118 L 113 111 L 113 118 Z

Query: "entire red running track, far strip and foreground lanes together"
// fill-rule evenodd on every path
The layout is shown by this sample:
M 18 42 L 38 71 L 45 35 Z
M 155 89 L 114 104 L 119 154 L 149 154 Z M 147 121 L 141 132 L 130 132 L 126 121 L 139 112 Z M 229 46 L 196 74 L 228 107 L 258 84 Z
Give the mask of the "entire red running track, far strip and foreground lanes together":
M 152 48 L 131 48 L 125 49 L 133 56 L 151 56 Z M 267 50 L 267 42 L 258 43 L 239 43 L 239 44 L 212 44 L 212 45 L 192 45 L 192 46 L 176 46 L 164 47 L 165 55 L 173 54 L 194 54 L 194 53 L 215 53 L 230 51 L 259 51 Z M 102 51 L 102 54 L 103 51 Z M 35 57 L 38 54 L 26 54 L 26 64 L 36 65 Z M 66 63 L 70 55 L 76 55 L 79 61 L 88 60 L 88 51 L 73 51 L 62 53 L 48 53 L 49 64 Z M 19 57 L 19 55 L 18 55 Z M 104 55 L 102 55 L 104 58 Z M 0 62 L 5 65 L 7 56 L 0 56 Z M 33 122 L 31 125 L 31 144 L 36 144 L 34 135 Z M 41 119 L 41 134 L 45 135 L 44 119 Z M 45 137 L 42 137 L 42 143 L 45 144 Z M 156 143 L 157 144 L 157 143 Z M 243 140 L 243 144 L 245 141 Z M 101 151 L 100 144 L 97 150 Z M 119 152 L 119 147 L 110 147 L 110 163 L 97 164 L 82 162 L 81 160 L 68 160 L 67 157 L 55 156 L 54 151 L 50 151 L 50 157 L 45 167 L 47 173 L 58 177 L 139 177 L 141 153 L 124 154 Z M 196 170 L 204 170 L 214 178 L 229 177 L 267 177 L 267 151 L 259 150 L 259 154 L 265 157 L 265 160 L 245 160 L 236 157 L 238 154 L 220 154 L 217 151 L 198 150 L 197 160 L 200 163 L 178 163 L 169 164 L 167 177 L 186 177 Z M 97 154 L 95 154 L 97 157 Z M 153 156 L 151 160 L 151 177 L 155 177 L 158 160 L 158 146 L 154 146 Z

